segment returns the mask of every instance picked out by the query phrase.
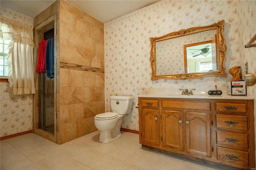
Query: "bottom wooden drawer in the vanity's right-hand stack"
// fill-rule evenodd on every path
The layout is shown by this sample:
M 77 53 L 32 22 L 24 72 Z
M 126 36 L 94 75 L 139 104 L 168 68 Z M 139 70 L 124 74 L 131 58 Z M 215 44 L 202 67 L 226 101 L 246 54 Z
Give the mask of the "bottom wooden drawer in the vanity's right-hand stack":
M 230 165 L 248 166 L 248 152 L 217 147 L 217 159 L 230 162 Z

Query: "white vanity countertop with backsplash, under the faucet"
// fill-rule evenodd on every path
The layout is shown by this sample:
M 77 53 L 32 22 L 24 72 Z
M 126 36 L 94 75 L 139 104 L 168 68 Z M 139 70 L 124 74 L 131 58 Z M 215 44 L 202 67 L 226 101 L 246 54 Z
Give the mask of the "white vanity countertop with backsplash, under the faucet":
M 188 90 L 190 89 L 188 88 Z M 254 98 L 250 96 L 228 95 L 227 92 L 224 91 L 226 89 L 220 89 L 222 90 L 221 95 L 209 95 L 207 93 L 208 90 L 213 90 L 213 89 L 197 88 L 196 90 L 192 90 L 193 95 L 182 95 L 182 90 L 179 90 L 176 88 L 151 88 L 149 94 L 140 94 L 140 95 L 137 95 L 137 97 L 254 100 Z

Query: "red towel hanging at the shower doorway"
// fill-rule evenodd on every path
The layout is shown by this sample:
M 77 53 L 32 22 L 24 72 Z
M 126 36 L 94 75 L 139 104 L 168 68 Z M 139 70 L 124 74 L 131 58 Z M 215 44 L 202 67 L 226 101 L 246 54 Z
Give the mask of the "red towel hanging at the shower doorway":
M 46 72 L 46 70 L 45 70 L 46 44 L 47 44 L 46 40 L 42 40 L 40 42 L 39 52 L 38 52 L 38 64 L 37 64 L 37 68 L 36 68 L 36 72 L 37 73 L 39 73 L 39 72 Z

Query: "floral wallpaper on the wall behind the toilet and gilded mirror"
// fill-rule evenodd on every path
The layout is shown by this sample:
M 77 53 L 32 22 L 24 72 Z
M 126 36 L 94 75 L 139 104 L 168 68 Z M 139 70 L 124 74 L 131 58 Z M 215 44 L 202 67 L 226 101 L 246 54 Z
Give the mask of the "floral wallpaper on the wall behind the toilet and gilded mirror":
M 242 6 L 241 11 L 237 9 L 238 4 Z M 240 56 L 243 56 L 243 53 L 240 54 L 239 34 L 246 30 L 241 29 L 241 33 L 238 32 L 240 27 L 238 12 L 253 20 L 255 3 L 234 0 L 164 0 L 106 23 L 104 26 L 105 99 L 111 95 L 135 97 L 132 113 L 124 116 L 122 128 L 139 130 L 138 109 L 135 108 L 138 102 L 136 95 L 148 93 L 151 87 L 214 88 L 214 85 L 226 87 L 232 77 L 228 70 L 233 66 L 241 66 Z M 224 37 L 227 46 L 225 68 L 228 74 L 226 78 L 150 80 L 150 37 L 163 36 L 194 26 L 210 25 L 220 20 L 225 20 Z M 243 22 L 243 17 L 240 20 Z M 255 27 L 255 23 L 251 27 Z M 246 26 L 246 29 L 250 27 Z M 255 56 L 247 57 L 252 61 L 255 69 Z M 110 102 L 106 100 L 106 112 L 110 110 Z

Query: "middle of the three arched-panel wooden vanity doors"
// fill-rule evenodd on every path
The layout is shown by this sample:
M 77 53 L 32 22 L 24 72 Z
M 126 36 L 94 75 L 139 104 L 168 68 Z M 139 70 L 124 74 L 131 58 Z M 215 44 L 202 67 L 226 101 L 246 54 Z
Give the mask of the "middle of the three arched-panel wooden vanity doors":
M 162 134 L 163 146 L 183 150 L 182 112 L 163 110 Z

